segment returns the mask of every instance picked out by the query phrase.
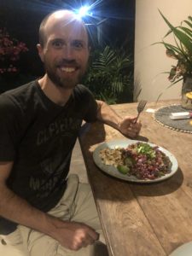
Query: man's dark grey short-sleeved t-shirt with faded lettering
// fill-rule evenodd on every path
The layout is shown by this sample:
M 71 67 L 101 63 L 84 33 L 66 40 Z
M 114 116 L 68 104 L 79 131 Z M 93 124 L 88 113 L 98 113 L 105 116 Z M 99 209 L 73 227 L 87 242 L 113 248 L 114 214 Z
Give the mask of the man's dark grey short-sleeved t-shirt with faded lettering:
M 47 212 L 66 188 L 74 143 L 84 119 L 96 120 L 96 101 L 78 84 L 67 104 L 51 102 L 38 81 L 0 96 L 0 161 L 14 161 L 8 187 Z M 0 234 L 16 224 L 0 218 Z

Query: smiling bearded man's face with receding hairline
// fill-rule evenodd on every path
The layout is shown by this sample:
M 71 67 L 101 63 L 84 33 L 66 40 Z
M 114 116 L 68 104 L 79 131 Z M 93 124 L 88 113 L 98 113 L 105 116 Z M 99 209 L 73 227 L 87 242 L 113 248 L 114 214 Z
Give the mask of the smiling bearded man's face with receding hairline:
M 39 55 L 49 79 L 65 89 L 73 89 L 84 76 L 89 59 L 87 33 L 79 20 L 48 20 L 44 48 Z

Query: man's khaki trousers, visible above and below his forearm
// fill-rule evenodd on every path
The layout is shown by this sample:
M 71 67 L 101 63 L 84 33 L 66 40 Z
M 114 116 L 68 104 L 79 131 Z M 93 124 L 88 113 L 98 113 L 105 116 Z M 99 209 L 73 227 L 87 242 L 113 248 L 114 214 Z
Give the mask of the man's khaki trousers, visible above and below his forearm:
M 90 185 L 80 184 L 77 175 L 68 178 L 65 194 L 49 214 L 63 220 L 88 224 L 102 234 Z M 72 251 L 61 247 L 58 241 L 38 231 L 23 226 L 19 229 L 31 256 L 95 256 L 95 245 Z

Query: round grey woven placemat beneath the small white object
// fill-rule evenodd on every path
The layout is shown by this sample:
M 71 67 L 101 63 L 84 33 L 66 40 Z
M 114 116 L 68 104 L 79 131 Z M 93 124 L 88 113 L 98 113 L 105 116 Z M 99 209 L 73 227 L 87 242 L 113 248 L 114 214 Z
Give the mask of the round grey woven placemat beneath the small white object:
M 170 119 L 171 113 L 177 112 L 189 112 L 186 109 L 183 109 L 181 105 L 170 105 L 163 108 L 159 108 L 154 113 L 154 119 L 163 126 L 170 128 L 175 131 L 183 131 L 192 133 L 192 125 L 190 124 L 191 119 L 180 119 L 172 120 Z

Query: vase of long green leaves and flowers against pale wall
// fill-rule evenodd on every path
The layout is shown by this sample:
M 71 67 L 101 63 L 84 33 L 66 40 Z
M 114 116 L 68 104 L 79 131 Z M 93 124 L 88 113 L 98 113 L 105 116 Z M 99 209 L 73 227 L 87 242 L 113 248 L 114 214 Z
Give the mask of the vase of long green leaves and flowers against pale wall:
M 180 26 L 172 26 L 166 17 L 160 12 L 170 30 L 166 33 L 166 38 L 172 33 L 175 44 L 168 44 L 164 40 L 157 44 L 166 47 L 166 55 L 177 60 L 177 65 L 172 66 L 168 79 L 171 81 L 169 87 L 183 80 L 182 87 L 182 107 L 192 109 L 192 102 L 188 98 L 192 91 L 192 17 L 183 20 Z M 187 95 L 187 96 L 186 96 Z

